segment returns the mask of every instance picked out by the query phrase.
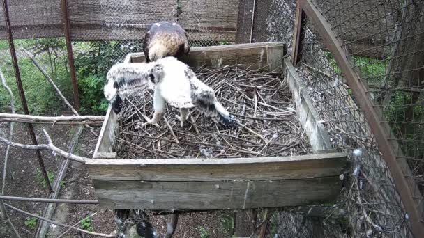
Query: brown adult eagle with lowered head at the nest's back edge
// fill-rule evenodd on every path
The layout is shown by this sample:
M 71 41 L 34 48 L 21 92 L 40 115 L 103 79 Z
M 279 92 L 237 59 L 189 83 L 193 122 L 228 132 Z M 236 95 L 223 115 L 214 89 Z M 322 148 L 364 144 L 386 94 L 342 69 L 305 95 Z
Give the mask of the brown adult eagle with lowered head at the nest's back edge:
M 156 22 L 150 26 L 144 37 L 143 51 L 147 63 L 167 56 L 181 60 L 181 56 L 190 51 L 190 44 L 187 34 L 179 24 Z

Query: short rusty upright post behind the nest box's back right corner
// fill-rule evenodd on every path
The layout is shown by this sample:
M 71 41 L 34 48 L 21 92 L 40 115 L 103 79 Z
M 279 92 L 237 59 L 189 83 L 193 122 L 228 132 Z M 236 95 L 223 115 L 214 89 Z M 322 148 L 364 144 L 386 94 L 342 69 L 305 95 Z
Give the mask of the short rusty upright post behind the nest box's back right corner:
M 297 3 L 296 10 L 296 22 L 294 24 L 294 35 L 293 35 L 293 52 L 292 52 L 292 63 L 296 67 L 297 63 L 301 61 L 302 42 L 305 34 L 305 18 L 306 14 L 301 8 L 301 4 Z

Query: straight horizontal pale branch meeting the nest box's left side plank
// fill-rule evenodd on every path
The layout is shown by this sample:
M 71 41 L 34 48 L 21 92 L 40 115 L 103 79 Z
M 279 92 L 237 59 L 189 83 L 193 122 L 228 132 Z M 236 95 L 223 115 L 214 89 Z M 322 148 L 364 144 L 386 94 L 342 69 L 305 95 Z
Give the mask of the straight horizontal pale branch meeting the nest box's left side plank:
M 97 124 L 101 125 L 104 116 L 32 116 L 0 113 L 0 122 L 52 123 L 52 124 Z

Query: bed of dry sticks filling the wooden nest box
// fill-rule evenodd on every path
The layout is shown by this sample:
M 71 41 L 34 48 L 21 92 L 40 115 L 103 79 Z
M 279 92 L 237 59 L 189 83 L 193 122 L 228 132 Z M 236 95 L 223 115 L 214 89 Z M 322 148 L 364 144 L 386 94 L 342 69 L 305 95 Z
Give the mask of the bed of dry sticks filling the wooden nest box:
M 202 68 L 197 78 L 215 90 L 218 100 L 236 118 L 237 126 L 222 128 L 190 109 L 183 128 L 168 106 L 159 127 L 137 128 L 153 116 L 153 92 L 128 97 L 116 137 L 119 159 L 273 157 L 310 153 L 296 119 L 292 93 L 281 73 L 242 70 L 236 66 Z

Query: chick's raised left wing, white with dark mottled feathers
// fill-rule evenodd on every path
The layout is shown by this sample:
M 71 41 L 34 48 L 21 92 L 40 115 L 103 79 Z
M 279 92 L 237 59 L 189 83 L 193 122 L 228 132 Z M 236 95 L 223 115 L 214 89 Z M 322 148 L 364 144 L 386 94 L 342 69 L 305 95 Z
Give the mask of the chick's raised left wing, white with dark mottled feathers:
M 153 89 L 153 81 L 155 77 L 161 77 L 161 70 L 162 68 L 146 63 L 117 63 L 112 66 L 107 72 L 103 92 L 114 111 L 121 111 L 123 98 L 128 94 Z

